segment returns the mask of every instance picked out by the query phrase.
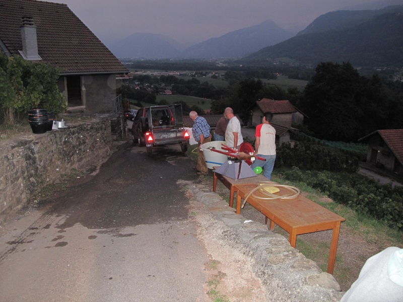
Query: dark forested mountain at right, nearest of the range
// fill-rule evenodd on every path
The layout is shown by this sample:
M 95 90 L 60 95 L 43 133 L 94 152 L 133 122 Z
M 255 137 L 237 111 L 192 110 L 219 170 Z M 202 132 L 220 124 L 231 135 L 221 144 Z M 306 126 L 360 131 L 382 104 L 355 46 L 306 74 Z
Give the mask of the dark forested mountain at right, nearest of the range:
M 345 61 L 354 66 L 403 65 L 403 6 L 363 12 L 363 15 L 350 11 L 322 15 L 297 36 L 262 48 L 240 62 L 290 60 L 316 65 L 323 61 Z

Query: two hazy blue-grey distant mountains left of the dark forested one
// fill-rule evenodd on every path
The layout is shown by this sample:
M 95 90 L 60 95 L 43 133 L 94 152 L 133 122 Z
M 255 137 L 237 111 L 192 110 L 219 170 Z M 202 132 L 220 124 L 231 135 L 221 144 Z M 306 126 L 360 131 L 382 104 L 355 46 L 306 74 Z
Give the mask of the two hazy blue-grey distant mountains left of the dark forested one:
M 119 58 L 237 58 L 295 36 L 273 21 L 242 28 L 183 49 L 164 35 L 134 33 L 109 47 Z

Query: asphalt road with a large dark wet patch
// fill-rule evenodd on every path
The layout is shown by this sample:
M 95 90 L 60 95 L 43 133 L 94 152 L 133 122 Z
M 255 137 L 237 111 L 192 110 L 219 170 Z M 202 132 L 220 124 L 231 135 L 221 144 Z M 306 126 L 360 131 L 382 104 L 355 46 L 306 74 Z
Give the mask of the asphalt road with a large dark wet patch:
M 41 198 L 0 237 L 0 301 L 205 301 L 208 256 L 178 179 L 179 145 L 131 141 L 98 172 Z

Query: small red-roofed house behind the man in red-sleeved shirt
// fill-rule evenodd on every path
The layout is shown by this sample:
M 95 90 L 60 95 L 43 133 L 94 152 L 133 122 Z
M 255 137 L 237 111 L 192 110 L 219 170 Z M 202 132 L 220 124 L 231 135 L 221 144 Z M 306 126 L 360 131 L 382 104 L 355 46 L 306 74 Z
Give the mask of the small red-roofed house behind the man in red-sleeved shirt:
M 288 100 L 277 101 L 271 99 L 261 99 L 251 107 L 251 120 L 249 121 L 249 124 L 252 126 L 257 126 L 260 124 L 263 118 L 263 113 L 267 111 L 273 113 L 272 123 L 289 128 L 291 128 L 291 124 L 293 123 L 303 124 L 305 116 Z

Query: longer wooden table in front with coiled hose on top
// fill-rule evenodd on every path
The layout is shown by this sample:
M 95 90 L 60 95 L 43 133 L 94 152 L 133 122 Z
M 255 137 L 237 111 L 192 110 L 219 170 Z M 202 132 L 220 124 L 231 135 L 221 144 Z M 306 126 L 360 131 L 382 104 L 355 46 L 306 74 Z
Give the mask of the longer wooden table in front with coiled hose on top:
M 236 184 L 236 213 L 241 210 L 241 198 L 245 198 L 250 190 L 256 188 L 256 184 Z M 280 192 L 276 195 L 290 193 L 289 190 L 280 187 Z M 318 205 L 317 203 L 298 195 L 295 199 L 271 199 L 264 200 L 258 197 L 264 196 L 258 190 L 256 197 L 250 196 L 247 202 L 261 212 L 267 219 L 270 219 L 270 230 L 274 230 L 275 223 L 290 234 L 289 242 L 293 248 L 297 240 L 297 235 L 313 233 L 318 231 L 333 230 L 331 236 L 329 260 L 327 272 L 333 273 L 334 260 L 336 258 L 337 245 L 339 242 L 340 223 L 346 219 L 334 214 L 332 211 Z

